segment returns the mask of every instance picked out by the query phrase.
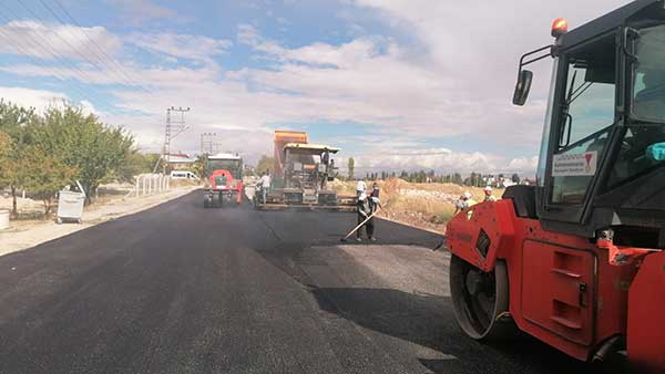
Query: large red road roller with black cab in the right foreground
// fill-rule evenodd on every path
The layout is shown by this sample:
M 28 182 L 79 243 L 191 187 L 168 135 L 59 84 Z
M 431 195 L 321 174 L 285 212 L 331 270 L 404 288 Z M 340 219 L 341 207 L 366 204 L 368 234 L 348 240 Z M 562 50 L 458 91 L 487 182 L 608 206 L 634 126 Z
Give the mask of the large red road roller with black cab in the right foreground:
M 553 59 L 535 186 L 448 225 L 459 325 L 516 328 L 584 361 L 665 373 L 665 1 L 640 0 L 520 60 Z M 623 361 L 623 360 L 620 360 Z

